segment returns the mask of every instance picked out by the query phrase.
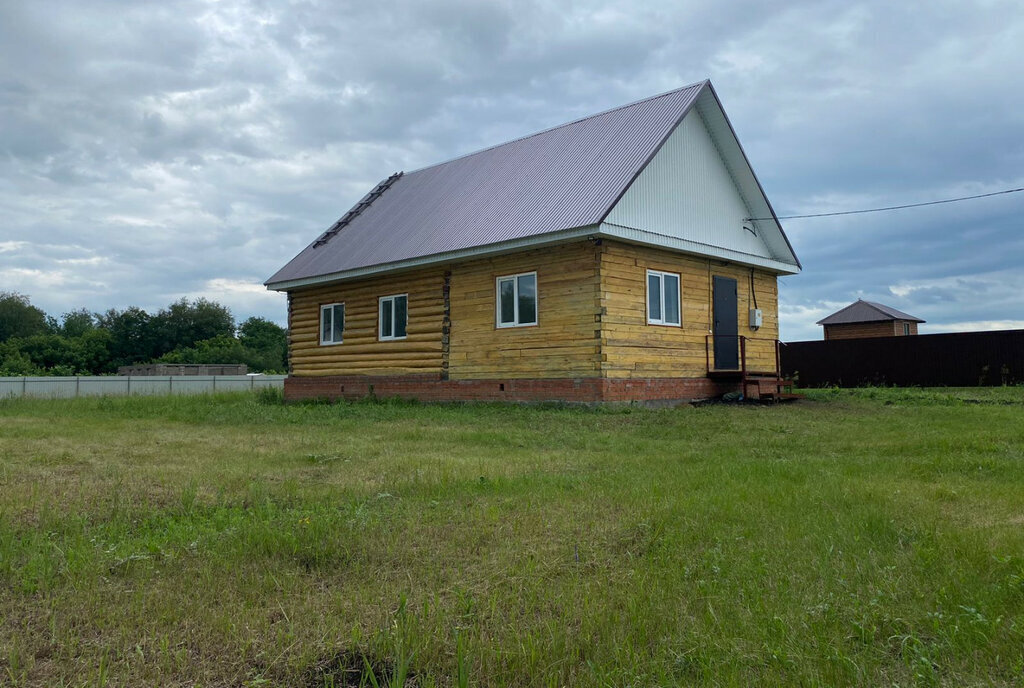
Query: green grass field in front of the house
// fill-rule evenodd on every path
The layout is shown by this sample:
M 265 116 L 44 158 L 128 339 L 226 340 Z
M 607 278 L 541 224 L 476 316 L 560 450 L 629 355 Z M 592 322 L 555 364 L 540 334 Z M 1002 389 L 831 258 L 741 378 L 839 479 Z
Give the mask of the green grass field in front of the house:
M 0 685 L 1024 684 L 1024 388 L 0 401 Z

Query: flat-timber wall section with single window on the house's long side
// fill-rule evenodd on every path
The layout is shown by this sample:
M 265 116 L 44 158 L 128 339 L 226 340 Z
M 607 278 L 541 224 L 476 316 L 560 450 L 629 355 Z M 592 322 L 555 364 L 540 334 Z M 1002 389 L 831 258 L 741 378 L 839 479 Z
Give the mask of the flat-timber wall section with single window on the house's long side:
M 598 377 L 597 269 L 591 242 L 454 265 L 451 379 Z M 535 270 L 538 325 L 496 327 L 496 278 Z

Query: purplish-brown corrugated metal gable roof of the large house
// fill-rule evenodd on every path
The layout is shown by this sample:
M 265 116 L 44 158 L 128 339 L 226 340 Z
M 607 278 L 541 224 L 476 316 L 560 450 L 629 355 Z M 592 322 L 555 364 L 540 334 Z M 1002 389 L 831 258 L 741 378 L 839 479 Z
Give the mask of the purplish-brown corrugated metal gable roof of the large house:
M 604 218 L 683 118 L 698 101 L 709 99 L 713 109 L 721 110 L 711 83 L 702 81 L 392 175 L 266 285 L 287 290 L 590 235 L 612 236 L 616 229 L 602 224 Z M 731 125 L 724 121 L 731 134 L 727 138 L 741 158 L 739 167 L 745 168 L 744 179 L 753 179 L 760 196 L 760 212 L 752 208 L 752 217 L 767 209 L 774 218 Z M 777 220 L 768 224 L 781 236 L 783 255 L 754 262 L 767 262 L 782 272 L 799 271 L 781 226 Z M 622 239 L 662 244 L 656 236 Z

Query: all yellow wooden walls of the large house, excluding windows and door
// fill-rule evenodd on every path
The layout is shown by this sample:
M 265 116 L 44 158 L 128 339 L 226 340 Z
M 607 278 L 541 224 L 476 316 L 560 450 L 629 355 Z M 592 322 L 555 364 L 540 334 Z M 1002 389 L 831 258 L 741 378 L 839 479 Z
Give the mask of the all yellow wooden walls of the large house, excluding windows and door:
M 646 270 L 681 276 L 682 327 L 647 325 Z M 496 278 L 536 271 L 538 325 L 498 328 Z M 755 270 L 764 326 L 748 327 L 751 270 L 605 241 L 578 242 L 289 294 L 292 375 L 439 374 L 452 380 L 700 378 L 714 275 L 737 283 L 748 368 L 774 371 L 778 292 Z M 378 298 L 409 294 L 409 335 L 378 341 Z M 345 304 L 344 341 L 321 345 L 319 307 Z

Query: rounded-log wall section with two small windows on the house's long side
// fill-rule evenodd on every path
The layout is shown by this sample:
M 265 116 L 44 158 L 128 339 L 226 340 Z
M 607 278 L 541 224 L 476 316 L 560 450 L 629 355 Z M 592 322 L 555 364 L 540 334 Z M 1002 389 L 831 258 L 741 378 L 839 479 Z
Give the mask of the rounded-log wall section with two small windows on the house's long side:
M 438 267 L 289 293 L 292 375 L 440 373 L 443 287 Z M 407 293 L 407 338 L 378 341 L 378 298 Z M 328 303 L 345 304 L 341 344 L 319 343 L 319 307 Z

